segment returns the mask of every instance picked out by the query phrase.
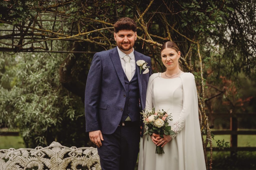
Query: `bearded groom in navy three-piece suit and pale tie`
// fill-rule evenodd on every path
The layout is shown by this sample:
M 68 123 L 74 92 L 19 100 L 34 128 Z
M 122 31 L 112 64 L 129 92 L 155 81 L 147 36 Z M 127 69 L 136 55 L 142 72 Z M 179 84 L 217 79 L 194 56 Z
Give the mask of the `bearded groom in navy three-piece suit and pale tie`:
M 97 145 L 102 170 L 134 170 L 141 136 L 151 59 L 133 49 L 136 23 L 114 24 L 117 47 L 93 56 L 85 89 L 86 132 Z M 144 60 L 150 68 L 140 69 Z M 141 73 L 140 73 L 141 71 Z

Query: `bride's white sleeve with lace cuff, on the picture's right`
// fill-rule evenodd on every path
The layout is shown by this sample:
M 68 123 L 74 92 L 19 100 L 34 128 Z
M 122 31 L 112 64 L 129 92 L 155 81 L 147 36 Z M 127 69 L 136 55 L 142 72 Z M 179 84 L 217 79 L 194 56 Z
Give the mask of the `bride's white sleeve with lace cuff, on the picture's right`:
M 184 128 L 185 120 L 186 120 L 186 106 L 185 106 L 185 96 L 184 96 L 184 89 L 183 89 L 183 108 L 180 112 L 179 118 L 172 125 L 172 130 L 175 132 L 175 135 L 170 135 L 172 139 L 175 138 L 177 134 Z

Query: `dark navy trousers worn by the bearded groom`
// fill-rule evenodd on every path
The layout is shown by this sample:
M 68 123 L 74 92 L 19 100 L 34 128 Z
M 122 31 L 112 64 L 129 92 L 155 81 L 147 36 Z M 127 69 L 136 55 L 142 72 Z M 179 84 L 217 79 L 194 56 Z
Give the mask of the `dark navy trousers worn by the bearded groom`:
M 98 149 L 102 170 L 134 170 L 139 152 L 140 125 L 118 126 L 113 134 L 102 134 Z

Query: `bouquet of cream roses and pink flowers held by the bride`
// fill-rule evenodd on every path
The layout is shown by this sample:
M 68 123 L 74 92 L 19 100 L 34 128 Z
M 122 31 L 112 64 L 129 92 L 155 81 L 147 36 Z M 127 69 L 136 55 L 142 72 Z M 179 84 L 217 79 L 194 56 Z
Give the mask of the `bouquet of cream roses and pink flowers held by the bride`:
M 164 110 L 155 111 L 155 108 L 152 108 L 150 111 L 142 111 L 141 114 L 146 129 L 144 135 L 151 136 L 153 133 L 155 133 L 159 134 L 161 138 L 163 138 L 164 135 L 175 135 L 175 132 L 171 130 L 171 126 L 168 126 L 169 123 L 167 122 L 167 120 L 172 121 L 172 116 L 167 114 Z M 156 146 L 157 154 L 164 154 L 164 150 L 161 146 L 162 145 Z

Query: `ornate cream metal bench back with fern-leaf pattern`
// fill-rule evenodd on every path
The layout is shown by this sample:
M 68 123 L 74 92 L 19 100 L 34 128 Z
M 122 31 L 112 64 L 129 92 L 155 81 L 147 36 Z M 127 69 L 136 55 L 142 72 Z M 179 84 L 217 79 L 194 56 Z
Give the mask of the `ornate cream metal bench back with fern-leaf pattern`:
M 98 151 L 93 147 L 65 147 L 52 142 L 35 149 L 1 149 L 0 170 L 100 170 Z

